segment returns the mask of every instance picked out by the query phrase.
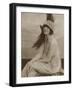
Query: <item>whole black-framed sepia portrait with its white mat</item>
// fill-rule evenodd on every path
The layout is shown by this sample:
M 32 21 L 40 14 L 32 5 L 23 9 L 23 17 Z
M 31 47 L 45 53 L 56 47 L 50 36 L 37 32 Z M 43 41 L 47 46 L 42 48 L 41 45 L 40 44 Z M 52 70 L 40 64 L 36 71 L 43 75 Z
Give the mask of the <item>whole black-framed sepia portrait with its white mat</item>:
M 14 3 L 10 16 L 10 86 L 70 83 L 71 7 Z

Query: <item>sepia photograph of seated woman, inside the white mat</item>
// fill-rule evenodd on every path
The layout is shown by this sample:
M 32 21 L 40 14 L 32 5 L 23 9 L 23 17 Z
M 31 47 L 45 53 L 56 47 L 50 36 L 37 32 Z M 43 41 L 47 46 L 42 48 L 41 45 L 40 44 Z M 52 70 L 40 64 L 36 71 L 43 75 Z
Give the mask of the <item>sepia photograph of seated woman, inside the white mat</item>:
M 21 77 L 64 75 L 64 14 L 21 12 Z

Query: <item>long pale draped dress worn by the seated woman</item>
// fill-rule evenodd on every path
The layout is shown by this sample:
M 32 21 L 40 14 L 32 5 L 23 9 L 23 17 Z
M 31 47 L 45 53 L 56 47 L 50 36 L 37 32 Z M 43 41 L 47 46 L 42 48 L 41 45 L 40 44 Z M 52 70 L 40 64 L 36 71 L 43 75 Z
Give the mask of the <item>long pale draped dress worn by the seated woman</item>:
M 60 71 L 61 60 L 56 39 L 42 44 L 39 53 L 22 70 L 22 77 L 34 77 L 55 74 Z

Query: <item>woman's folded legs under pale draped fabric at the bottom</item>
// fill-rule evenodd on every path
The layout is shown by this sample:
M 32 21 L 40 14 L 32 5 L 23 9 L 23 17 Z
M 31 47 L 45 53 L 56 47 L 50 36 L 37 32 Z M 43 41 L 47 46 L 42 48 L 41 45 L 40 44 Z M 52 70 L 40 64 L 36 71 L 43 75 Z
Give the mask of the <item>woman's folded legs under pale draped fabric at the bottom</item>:
M 58 71 L 58 66 L 53 66 L 54 62 L 44 63 L 40 60 L 37 61 L 29 61 L 23 70 L 23 76 L 27 76 L 26 72 L 28 72 L 28 76 L 38 76 L 38 75 L 49 75 L 56 73 Z

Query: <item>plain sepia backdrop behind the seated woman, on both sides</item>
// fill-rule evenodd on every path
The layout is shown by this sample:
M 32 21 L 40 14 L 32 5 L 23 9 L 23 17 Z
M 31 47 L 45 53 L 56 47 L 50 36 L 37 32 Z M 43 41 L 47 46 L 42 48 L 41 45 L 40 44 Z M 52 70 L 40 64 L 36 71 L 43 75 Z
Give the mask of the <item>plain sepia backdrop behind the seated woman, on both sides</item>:
M 53 14 L 54 35 L 58 41 L 60 57 L 64 60 L 64 15 Z M 21 13 L 21 56 L 22 68 L 25 63 L 32 59 L 38 50 L 32 48 L 41 33 L 40 25 L 46 20 L 46 14 L 42 13 Z

